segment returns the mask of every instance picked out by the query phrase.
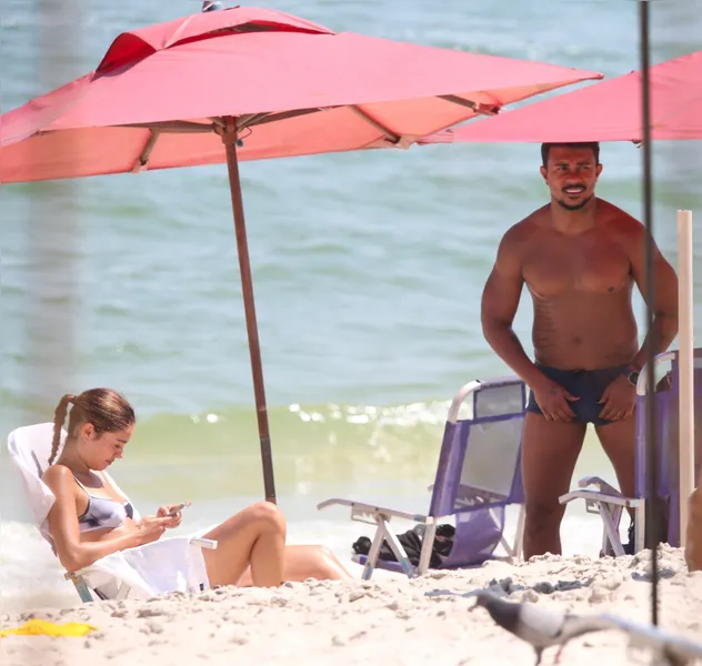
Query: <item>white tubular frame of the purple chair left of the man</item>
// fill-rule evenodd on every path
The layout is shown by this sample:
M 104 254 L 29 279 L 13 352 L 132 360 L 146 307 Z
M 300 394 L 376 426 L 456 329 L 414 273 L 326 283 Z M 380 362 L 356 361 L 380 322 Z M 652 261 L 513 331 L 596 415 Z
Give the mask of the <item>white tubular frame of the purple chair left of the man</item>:
M 471 424 L 480 425 L 482 423 L 487 423 L 490 421 L 497 421 L 500 418 L 509 418 L 514 416 L 520 416 L 523 418 L 525 413 L 525 401 L 526 401 L 526 387 L 524 383 L 518 377 L 500 377 L 495 380 L 483 380 L 483 381 L 471 381 L 461 386 L 458 391 L 453 401 L 451 403 L 451 407 L 449 408 L 449 414 L 447 417 L 447 428 L 444 431 L 444 440 L 441 447 L 439 467 L 437 470 L 437 480 L 439 480 L 439 473 L 442 466 L 442 462 L 444 462 L 451 456 L 452 446 L 457 446 L 454 438 L 449 436 L 449 428 L 451 426 L 455 426 L 459 423 L 459 412 L 461 406 L 465 403 L 467 400 L 473 398 L 473 410 L 475 403 L 477 395 L 485 389 L 494 389 L 501 386 L 517 386 L 521 390 L 522 395 L 522 404 L 519 412 L 505 412 L 503 414 L 492 414 L 490 416 L 481 417 L 472 415 L 471 418 L 464 420 L 470 421 Z M 453 443 L 452 443 L 453 442 Z M 519 475 L 520 485 L 521 485 L 521 473 L 519 470 L 519 464 L 521 461 L 521 431 L 519 436 L 519 442 L 515 444 L 518 447 L 518 464 L 517 470 L 514 472 L 515 475 Z M 454 452 L 453 452 L 454 453 Z M 430 492 L 433 492 L 435 487 L 435 483 L 429 486 Z M 481 496 L 480 492 L 477 492 L 473 497 L 475 502 L 475 508 L 484 508 L 487 505 L 491 505 L 495 497 L 491 496 L 489 493 L 485 493 Z M 373 539 L 371 542 L 371 546 L 365 556 L 364 562 L 358 555 L 353 555 L 352 559 L 357 563 L 363 564 L 363 572 L 361 577 L 363 579 L 370 579 L 373 571 L 379 568 L 379 556 L 380 549 L 382 547 L 383 541 L 388 542 L 392 553 L 394 554 L 399 567 L 408 577 L 415 577 L 424 575 L 430 568 L 431 554 L 434 545 L 437 526 L 442 518 L 445 518 L 452 513 L 441 513 L 438 514 L 435 511 L 432 511 L 432 507 L 435 504 L 437 496 L 435 494 L 432 496 L 432 503 L 430 504 L 430 511 L 427 514 L 415 514 L 408 513 L 403 511 L 393 509 L 384 506 L 377 506 L 374 504 L 368 504 L 363 502 L 358 502 L 354 500 L 342 498 L 342 497 L 331 497 L 321 502 L 317 505 L 318 509 L 324 509 L 330 506 L 348 506 L 351 509 L 351 519 L 360 523 L 367 523 L 375 527 L 375 533 L 373 535 Z M 500 544 L 504 548 L 507 555 L 505 556 L 497 556 L 493 555 L 494 559 L 507 559 L 507 561 L 517 561 L 522 557 L 522 544 L 523 544 L 523 533 L 524 533 L 524 504 L 522 502 L 510 502 L 505 501 L 501 504 L 495 504 L 498 506 L 507 506 L 508 504 L 520 504 L 520 513 L 517 523 L 517 529 L 513 543 L 510 543 L 504 536 L 504 529 L 502 529 L 502 534 L 500 536 Z M 493 509 L 490 509 L 491 513 Z M 458 512 L 453 512 L 458 513 Z M 390 522 L 392 518 L 403 518 L 407 521 L 411 521 L 418 525 L 424 526 L 424 533 L 422 537 L 422 547 L 419 557 L 419 563 L 417 565 L 412 564 L 410 561 L 404 547 L 393 534 L 390 528 Z M 468 564 L 465 568 L 470 566 L 479 566 L 479 564 Z

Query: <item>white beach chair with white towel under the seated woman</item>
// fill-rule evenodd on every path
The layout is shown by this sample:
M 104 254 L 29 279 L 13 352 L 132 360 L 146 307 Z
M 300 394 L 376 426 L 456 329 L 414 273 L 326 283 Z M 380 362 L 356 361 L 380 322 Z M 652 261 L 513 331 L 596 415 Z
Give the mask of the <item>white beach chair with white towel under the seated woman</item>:
M 10 460 L 21 476 L 33 523 L 56 555 L 47 516 L 56 502 L 41 475 L 49 463 L 53 423 L 19 427 L 8 436 Z M 62 431 L 59 453 L 66 441 Z M 122 494 L 114 480 L 110 483 Z M 134 507 L 133 519 L 140 518 Z M 169 592 L 201 592 L 209 588 L 202 548 L 215 548 L 217 542 L 198 535 L 162 537 L 157 542 L 113 553 L 77 572 L 67 572 L 82 602 L 100 599 L 150 598 Z M 94 595 L 94 596 L 93 596 Z

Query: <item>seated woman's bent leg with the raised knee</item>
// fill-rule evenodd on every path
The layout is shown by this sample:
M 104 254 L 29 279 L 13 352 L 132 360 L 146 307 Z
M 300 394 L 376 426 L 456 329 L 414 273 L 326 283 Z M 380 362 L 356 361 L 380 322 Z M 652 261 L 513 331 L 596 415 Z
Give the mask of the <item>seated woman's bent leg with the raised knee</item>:
M 258 587 L 283 582 L 285 518 L 274 504 L 257 502 L 203 535 L 217 539 L 217 548 L 202 549 L 210 585 L 237 585 L 250 567 Z

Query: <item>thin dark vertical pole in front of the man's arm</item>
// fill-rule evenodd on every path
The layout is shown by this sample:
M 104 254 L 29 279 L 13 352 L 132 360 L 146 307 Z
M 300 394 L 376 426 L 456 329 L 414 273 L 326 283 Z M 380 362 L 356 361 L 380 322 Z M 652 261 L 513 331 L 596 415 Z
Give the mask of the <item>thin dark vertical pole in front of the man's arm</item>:
M 646 264 L 646 333 L 649 347 L 645 360 L 646 369 L 646 531 L 648 547 L 651 549 L 651 623 L 658 625 L 658 432 L 655 420 L 655 350 L 658 341 L 654 339 L 653 307 L 655 283 L 653 280 L 653 206 L 651 182 L 651 95 L 649 81 L 649 0 L 639 1 L 639 27 L 641 48 L 641 103 L 643 121 L 643 223 L 646 230 L 645 264 Z

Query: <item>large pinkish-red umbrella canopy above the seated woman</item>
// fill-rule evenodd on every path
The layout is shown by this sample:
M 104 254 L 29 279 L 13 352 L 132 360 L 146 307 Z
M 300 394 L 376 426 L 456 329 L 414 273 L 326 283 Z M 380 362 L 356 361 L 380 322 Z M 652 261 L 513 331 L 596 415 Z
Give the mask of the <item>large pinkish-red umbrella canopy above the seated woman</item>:
M 0 117 L 0 182 L 408 147 L 598 72 L 334 33 L 260 8 L 120 34 L 99 67 Z

